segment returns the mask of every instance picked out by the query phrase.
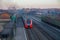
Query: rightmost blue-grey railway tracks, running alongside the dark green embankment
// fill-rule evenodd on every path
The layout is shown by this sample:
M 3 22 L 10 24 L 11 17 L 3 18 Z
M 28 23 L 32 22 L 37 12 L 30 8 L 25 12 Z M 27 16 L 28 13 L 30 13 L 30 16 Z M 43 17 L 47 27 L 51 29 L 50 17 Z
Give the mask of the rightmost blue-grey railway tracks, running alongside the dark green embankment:
M 43 29 L 44 31 L 42 33 L 46 35 L 48 34 L 50 36 L 49 38 L 52 38 L 53 40 L 60 40 L 60 31 L 58 29 L 37 20 L 34 20 L 34 23 L 38 26 L 36 28 L 38 28 L 39 30 Z

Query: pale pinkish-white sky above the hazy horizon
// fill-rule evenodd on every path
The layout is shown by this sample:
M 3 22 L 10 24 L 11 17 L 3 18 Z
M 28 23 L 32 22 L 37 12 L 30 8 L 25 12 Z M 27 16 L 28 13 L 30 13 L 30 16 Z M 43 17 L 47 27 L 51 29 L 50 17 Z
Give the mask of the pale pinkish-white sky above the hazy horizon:
M 0 9 L 17 8 L 60 8 L 60 0 L 0 0 Z

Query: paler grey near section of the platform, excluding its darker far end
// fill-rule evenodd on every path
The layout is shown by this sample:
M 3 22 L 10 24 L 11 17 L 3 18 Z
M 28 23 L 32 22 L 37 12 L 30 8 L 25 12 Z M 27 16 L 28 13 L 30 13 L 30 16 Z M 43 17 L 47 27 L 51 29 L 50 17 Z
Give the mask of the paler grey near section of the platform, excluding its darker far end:
M 27 40 L 25 29 L 23 27 L 17 28 L 16 36 L 15 36 L 14 40 Z

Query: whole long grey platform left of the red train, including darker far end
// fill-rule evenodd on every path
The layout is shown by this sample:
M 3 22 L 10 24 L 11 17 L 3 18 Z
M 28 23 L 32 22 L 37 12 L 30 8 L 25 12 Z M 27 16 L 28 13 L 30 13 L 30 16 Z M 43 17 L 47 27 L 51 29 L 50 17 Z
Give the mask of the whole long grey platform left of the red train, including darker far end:
M 16 36 L 14 40 L 27 40 L 25 28 L 21 19 L 17 19 L 16 27 Z

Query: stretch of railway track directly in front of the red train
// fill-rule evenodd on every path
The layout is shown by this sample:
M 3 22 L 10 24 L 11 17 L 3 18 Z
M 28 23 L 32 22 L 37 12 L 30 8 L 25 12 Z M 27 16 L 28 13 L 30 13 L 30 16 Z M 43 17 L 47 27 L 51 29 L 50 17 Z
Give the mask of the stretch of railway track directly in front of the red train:
M 39 37 L 34 30 L 27 29 L 26 33 L 27 33 L 28 40 L 39 40 Z

